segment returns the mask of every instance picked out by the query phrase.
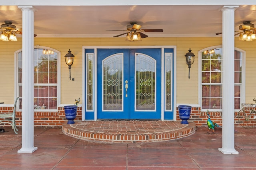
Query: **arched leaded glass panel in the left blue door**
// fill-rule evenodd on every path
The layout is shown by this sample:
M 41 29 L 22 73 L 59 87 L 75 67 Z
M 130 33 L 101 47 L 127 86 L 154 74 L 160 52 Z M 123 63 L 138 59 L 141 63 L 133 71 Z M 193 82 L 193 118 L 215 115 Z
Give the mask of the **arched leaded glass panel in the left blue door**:
M 116 54 L 102 61 L 103 108 L 102 110 L 122 111 L 123 55 Z

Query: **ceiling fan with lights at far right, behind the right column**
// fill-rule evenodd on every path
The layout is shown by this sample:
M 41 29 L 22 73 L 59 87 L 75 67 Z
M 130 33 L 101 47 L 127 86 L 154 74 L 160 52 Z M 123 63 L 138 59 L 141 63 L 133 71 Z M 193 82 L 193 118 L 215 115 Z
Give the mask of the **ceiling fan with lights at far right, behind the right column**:
M 238 32 L 238 33 L 236 33 Z M 219 35 L 222 33 L 216 33 Z M 251 21 L 243 21 L 243 25 L 239 26 L 239 31 L 235 31 L 235 36 L 239 35 L 240 41 L 252 41 L 256 39 L 256 28 L 254 28 L 254 24 Z

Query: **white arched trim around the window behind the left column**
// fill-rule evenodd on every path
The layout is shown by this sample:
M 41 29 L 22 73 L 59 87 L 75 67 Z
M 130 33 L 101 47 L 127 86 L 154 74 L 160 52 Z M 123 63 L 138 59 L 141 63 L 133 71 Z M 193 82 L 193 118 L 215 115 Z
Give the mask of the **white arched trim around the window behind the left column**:
M 52 49 L 50 47 L 46 46 L 40 46 L 36 45 L 34 46 L 34 49 L 48 49 L 51 51 L 54 51 L 57 53 L 57 108 L 56 109 L 34 109 L 34 112 L 51 112 L 51 111 L 58 111 L 58 107 L 60 105 L 60 99 L 61 99 L 61 91 L 60 91 L 60 82 L 61 82 L 61 53 L 60 51 L 57 51 L 56 49 Z M 18 49 L 17 51 L 14 52 L 14 98 L 18 96 L 18 53 L 22 52 L 22 49 Z M 19 102 L 19 101 L 18 101 Z M 17 111 L 22 111 L 22 109 L 17 109 Z

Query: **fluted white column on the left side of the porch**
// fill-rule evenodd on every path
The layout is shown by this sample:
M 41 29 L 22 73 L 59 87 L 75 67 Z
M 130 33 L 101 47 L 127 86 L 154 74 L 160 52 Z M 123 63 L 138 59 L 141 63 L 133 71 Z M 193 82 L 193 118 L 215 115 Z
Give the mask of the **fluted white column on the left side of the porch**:
M 22 147 L 18 153 L 32 153 L 34 147 L 34 10 L 22 10 Z

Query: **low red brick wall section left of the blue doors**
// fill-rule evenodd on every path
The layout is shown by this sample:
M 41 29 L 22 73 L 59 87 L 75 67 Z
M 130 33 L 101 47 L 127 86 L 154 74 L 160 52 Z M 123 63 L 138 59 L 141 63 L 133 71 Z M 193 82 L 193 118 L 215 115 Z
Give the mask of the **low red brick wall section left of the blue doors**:
M 13 107 L 0 107 L 0 113 L 12 113 Z M 74 121 L 82 120 L 82 107 L 77 107 L 77 115 Z M 35 126 L 61 126 L 65 118 L 63 107 L 58 107 L 56 112 L 34 112 L 34 125 Z M 1 124 L 0 124 L 1 125 Z M 16 125 L 22 125 L 22 112 L 16 112 Z M 9 125 L 7 125 L 9 126 Z

